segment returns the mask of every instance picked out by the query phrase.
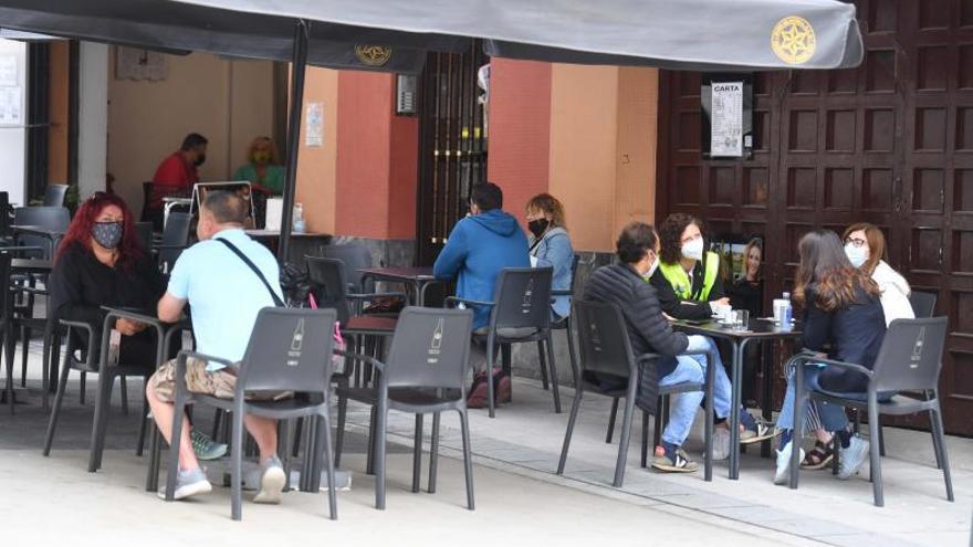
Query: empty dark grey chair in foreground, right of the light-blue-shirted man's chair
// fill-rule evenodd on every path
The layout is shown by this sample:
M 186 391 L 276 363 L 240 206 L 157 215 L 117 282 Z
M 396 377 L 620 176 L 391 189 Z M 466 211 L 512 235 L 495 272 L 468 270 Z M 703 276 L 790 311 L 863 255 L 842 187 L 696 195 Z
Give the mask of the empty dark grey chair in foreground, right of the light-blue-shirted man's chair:
M 429 492 L 436 490 L 436 465 L 439 449 L 439 413 L 456 410 L 460 414 L 463 438 L 463 465 L 467 482 L 467 507 L 474 508 L 473 464 L 470 454 L 470 425 L 467 417 L 465 380 L 470 361 L 470 329 L 473 314 L 469 309 L 407 307 L 399 316 L 387 364 L 370 357 L 354 356 L 369 361 L 379 370 L 377 386 L 339 388 L 346 399 L 373 407 L 369 460 L 375 464 L 375 507 L 385 508 L 385 444 L 389 410 L 416 414 L 412 492 L 419 491 L 419 463 L 422 450 L 422 417 L 432 413 L 432 439 L 429 463 Z M 344 429 L 344 412 L 338 413 L 338 431 Z M 342 445 L 336 446 L 341 453 Z

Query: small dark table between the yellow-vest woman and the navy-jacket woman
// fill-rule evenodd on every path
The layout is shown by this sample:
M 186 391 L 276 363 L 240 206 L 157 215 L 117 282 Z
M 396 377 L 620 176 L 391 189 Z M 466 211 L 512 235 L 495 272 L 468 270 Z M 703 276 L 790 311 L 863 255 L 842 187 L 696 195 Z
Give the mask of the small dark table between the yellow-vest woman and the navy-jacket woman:
M 773 320 L 763 318 L 751 318 L 747 327 L 732 327 L 722 325 L 715 320 L 704 323 L 674 320 L 672 328 L 688 335 L 702 335 L 711 338 L 722 338 L 729 340 L 733 346 L 733 358 L 731 364 L 731 402 L 730 402 L 730 478 L 740 477 L 740 407 L 742 404 L 742 385 L 743 385 L 743 353 L 747 344 L 753 340 L 782 340 L 799 338 L 802 333 L 798 325 L 791 328 L 782 328 L 775 325 Z M 770 377 L 764 381 L 771 381 Z M 764 401 L 767 404 L 767 401 Z

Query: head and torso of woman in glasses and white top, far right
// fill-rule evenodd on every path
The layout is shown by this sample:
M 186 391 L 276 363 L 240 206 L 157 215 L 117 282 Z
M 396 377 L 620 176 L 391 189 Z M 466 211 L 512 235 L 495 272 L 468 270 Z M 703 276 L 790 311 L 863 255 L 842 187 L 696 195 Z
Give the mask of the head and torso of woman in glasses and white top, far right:
M 892 270 L 882 259 L 886 255 L 886 236 L 875 224 L 859 222 L 845 230 L 845 253 L 851 264 L 871 275 L 881 291 L 886 326 L 893 319 L 914 319 L 909 302 L 909 282 Z

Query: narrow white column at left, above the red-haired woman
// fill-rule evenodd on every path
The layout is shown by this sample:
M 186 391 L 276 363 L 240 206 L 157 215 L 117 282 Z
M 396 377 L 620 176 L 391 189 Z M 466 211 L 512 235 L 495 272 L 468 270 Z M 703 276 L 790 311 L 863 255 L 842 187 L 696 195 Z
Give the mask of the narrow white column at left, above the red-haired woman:
M 77 185 L 81 199 L 105 189 L 108 159 L 108 46 L 81 43 Z

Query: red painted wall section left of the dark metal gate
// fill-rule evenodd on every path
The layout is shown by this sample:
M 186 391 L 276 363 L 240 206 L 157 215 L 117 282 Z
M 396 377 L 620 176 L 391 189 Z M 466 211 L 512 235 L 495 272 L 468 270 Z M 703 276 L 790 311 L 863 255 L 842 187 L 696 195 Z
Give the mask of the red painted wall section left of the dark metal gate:
M 419 126 L 395 115 L 395 76 L 338 74 L 335 234 L 416 236 Z

